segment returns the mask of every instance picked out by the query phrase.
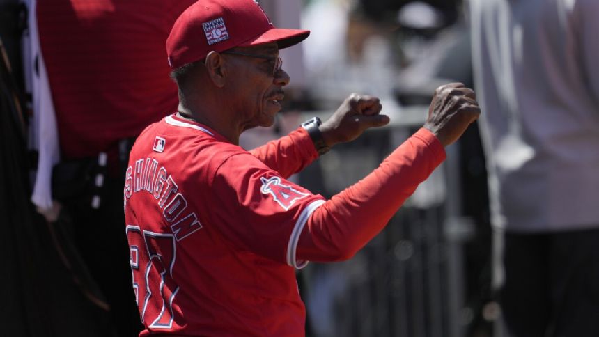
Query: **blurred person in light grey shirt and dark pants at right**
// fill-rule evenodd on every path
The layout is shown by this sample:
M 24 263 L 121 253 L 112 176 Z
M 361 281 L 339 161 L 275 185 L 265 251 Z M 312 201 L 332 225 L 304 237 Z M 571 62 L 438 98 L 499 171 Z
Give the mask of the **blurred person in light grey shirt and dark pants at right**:
M 599 2 L 471 0 L 506 331 L 599 331 Z

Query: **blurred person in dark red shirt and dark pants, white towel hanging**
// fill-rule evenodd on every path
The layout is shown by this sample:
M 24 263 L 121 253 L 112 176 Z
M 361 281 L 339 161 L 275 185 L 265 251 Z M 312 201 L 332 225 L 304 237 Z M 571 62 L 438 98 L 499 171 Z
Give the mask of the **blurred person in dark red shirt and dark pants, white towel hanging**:
M 33 202 L 59 233 L 95 315 L 105 317 L 102 336 L 141 331 L 127 262 L 122 166 L 139 132 L 176 111 L 164 43 L 193 2 L 42 0 L 29 13 L 40 41 L 33 69 L 45 65 L 50 93 L 44 109 L 33 111 L 40 154 Z M 52 108 L 56 130 L 47 115 Z M 48 148 L 53 142 L 57 148 Z

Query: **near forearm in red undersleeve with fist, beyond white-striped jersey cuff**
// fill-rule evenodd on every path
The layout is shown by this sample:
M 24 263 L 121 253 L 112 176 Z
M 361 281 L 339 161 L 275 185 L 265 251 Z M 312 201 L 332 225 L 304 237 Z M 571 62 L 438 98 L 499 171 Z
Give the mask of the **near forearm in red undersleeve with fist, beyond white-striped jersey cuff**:
M 352 257 L 443 161 L 443 146 L 456 141 L 479 114 L 472 90 L 462 84 L 438 88 L 419 132 L 384 159 L 378 169 L 311 214 L 299 237 L 295 267 L 304 260 Z

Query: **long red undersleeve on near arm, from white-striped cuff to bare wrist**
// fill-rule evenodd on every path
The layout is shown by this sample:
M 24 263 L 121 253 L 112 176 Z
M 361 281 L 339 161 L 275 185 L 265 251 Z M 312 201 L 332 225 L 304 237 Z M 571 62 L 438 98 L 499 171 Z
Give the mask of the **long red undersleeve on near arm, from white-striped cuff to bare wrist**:
M 311 214 L 299 239 L 298 258 L 332 261 L 354 256 L 444 159 L 439 140 L 421 128 L 366 178 Z

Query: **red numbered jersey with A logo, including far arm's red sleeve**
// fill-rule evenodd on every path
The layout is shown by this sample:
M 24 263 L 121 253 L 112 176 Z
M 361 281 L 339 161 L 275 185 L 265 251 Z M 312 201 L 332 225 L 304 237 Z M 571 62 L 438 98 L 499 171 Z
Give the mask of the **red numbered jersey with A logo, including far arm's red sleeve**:
M 124 191 L 140 336 L 304 336 L 295 250 L 325 201 L 286 178 L 316 157 L 302 128 L 253 152 L 175 115 L 141 133 Z

